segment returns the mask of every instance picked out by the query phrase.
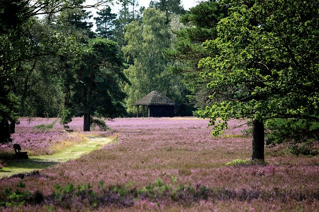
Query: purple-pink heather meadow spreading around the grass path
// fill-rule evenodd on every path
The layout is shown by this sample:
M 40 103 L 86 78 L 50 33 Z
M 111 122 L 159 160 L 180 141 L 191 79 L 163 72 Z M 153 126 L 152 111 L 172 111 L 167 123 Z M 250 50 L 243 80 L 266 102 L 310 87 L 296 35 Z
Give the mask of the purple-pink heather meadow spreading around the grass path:
M 319 158 L 285 146 L 265 148 L 265 164 L 249 159 L 243 120 L 212 137 L 194 117 L 116 118 L 109 131 L 82 131 L 82 118 L 64 132 L 34 126 L 55 119 L 21 118 L 13 134 L 30 155 L 55 154 L 90 137 L 112 142 L 80 158 L 0 179 L 1 211 L 319 211 Z M 8 157 L 13 149 L 1 146 Z M 5 159 L 1 159 L 5 166 Z M 1 172 L 1 169 L 0 169 Z

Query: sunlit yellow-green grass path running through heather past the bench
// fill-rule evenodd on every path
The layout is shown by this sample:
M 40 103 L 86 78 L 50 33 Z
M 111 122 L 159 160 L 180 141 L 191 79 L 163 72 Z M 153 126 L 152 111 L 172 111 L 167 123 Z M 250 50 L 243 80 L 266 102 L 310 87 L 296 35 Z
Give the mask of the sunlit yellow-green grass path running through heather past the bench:
M 111 138 L 88 137 L 89 141 L 65 148 L 52 155 L 29 156 L 29 159 L 14 159 L 5 161 L 5 167 L 0 169 L 0 179 L 14 174 L 32 172 L 54 166 L 58 163 L 79 158 L 93 150 L 100 149 L 105 144 L 111 143 Z

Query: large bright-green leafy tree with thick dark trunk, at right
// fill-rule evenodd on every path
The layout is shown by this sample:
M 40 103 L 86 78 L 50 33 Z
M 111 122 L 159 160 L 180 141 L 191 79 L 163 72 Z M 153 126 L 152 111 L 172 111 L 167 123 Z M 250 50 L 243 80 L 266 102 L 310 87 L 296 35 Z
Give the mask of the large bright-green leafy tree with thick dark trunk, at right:
M 221 3 L 229 16 L 219 22 L 218 37 L 204 43 L 214 54 L 200 61 L 214 101 L 202 115 L 214 134 L 232 117 L 250 118 L 252 159 L 264 160 L 264 120 L 319 120 L 318 2 Z

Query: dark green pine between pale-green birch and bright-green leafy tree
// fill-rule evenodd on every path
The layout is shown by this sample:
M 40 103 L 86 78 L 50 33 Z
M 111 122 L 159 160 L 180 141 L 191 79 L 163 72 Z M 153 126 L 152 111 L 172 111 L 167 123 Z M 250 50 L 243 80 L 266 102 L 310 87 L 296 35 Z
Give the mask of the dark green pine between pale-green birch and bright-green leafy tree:
M 172 30 L 176 40 L 166 56 L 174 61 L 173 72 L 183 76 L 182 82 L 191 92 L 188 98 L 197 109 L 210 104 L 208 81 L 200 75 L 203 68 L 197 66 L 200 59 L 211 53 L 202 43 L 217 37 L 217 23 L 225 16 L 225 8 L 217 1 L 200 2 L 180 17 L 183 25 Z

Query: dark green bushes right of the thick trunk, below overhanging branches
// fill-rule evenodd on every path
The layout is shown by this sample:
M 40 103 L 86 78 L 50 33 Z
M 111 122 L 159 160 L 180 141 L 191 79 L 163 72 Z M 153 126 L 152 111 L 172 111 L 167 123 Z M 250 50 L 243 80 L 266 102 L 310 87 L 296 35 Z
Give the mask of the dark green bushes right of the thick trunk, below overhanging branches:
M 306 119 L 271 119 L 265 123 L 266 144 L 288 145 L 288 152 L 295 155 L 316 155 L 319 122 Z

